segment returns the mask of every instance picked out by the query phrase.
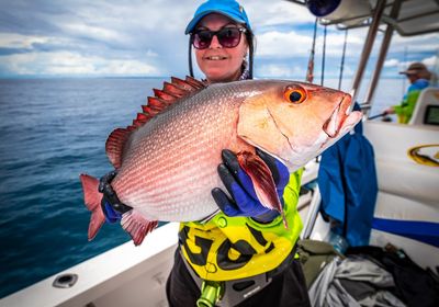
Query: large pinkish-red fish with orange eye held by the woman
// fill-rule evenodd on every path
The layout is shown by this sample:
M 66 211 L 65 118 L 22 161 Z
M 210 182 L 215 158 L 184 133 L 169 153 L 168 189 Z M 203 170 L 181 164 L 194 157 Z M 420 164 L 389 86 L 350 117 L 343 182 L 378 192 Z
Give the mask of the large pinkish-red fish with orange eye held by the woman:
M 192 221 L 218 211 L 211 190 L 224 187 L 217 166 L 222 149 L 237 152 L 262 205 L 282 213 L 274 182 L 255 147 L 291 172 L 334 144 L 360 120 L 349 94 L 302 82 L 248 80 L 206 86 L 171 78 L 154 90 L 133 125 L 115 129 L 106 155 L 117 174 L 111 182 L 133 209 L 122 227 L 139 245 L 164 221 Z M 85 203 L 92 212 L 89 239 L 105 218 L 99 181 L 81 174 Z

